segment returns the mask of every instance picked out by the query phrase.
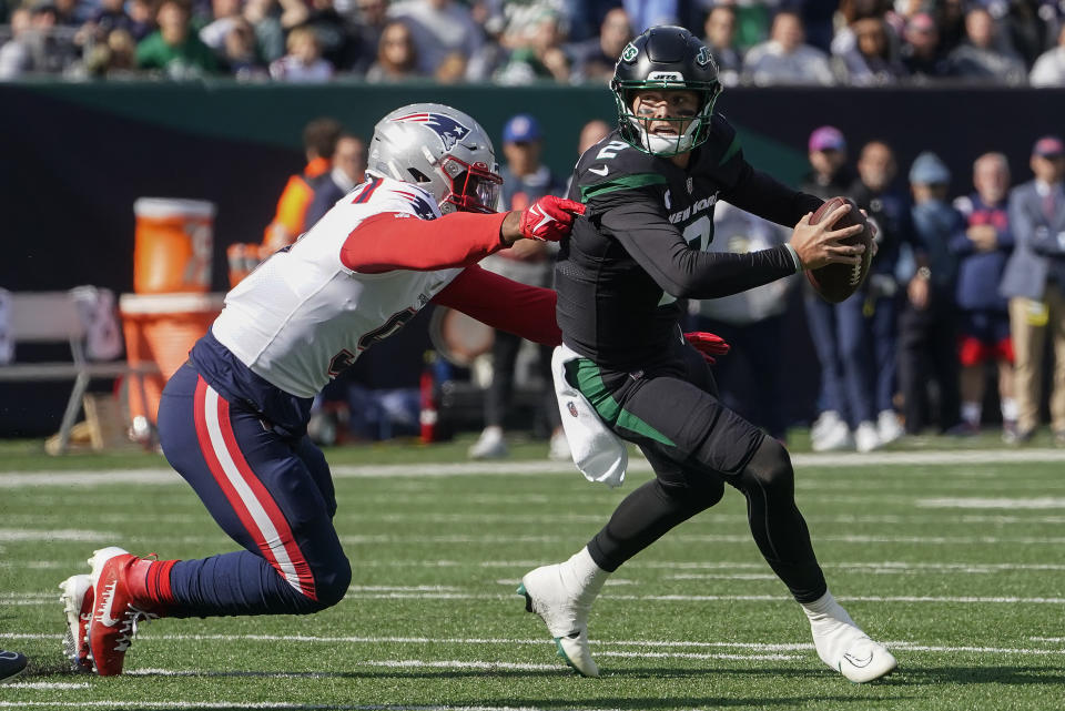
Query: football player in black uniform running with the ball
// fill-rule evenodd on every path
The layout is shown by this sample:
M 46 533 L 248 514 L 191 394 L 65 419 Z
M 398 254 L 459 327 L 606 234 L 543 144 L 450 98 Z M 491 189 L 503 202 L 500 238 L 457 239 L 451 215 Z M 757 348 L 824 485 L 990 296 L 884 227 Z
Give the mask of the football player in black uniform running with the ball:
M 586 204 L 556 266 L 566 379 L 656 478 L 632 491 L 569 560 L 537 568 L 519 592 L 584 676 L 599 670 L 588 613 L 609 573 L 681 521 L 713 506 L 724 485 L 748 502 L 751 532 L 810 620 L 821 659 L 852 681 L 895 660 L 829 592 L 794 500 L 787 449 L 724 407 L 701 354 L 681 336 L 680 298 L 734 294 L 829 263 L 856 264 L 863 246 L 818 225 L 819 197 L 753 170 L 736 131 L 713 112 L 721 91 L 710 52 L 690 32 L 656 27 L 632 40 L 611 89 L 619 126 L 580 158 L 571 197 Z M 718 200 L 792 226 L 790 244 L 749 254 L 706 252 Z M 564 413 L 564 417 L 566 414 Z

